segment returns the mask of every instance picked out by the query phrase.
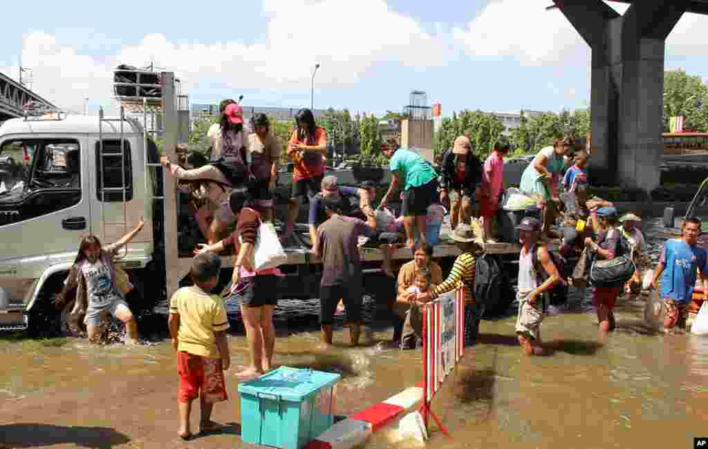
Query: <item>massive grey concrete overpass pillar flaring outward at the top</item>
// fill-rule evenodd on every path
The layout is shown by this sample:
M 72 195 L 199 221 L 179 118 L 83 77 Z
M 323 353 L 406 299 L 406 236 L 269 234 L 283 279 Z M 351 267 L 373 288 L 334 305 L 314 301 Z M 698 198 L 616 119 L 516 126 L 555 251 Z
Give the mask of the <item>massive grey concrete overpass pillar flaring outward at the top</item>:
M 689 0 L 643 0 L 624 14 L 601 0 L 554 0 L 592 50 L 590 182 L 658 187 L 664 45 Z

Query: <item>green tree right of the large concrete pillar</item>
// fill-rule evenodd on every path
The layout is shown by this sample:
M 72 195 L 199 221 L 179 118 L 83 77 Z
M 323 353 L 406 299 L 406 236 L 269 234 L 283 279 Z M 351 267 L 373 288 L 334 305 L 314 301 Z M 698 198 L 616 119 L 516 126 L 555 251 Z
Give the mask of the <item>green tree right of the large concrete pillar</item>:
M 664 72 L 663 122 L 664 132 L 669 132 L 669 119 L 678 115 L 685 117 L 686 129 L 708 132 L 708 86 L 700 76 L 686 74 L 683 70 Z

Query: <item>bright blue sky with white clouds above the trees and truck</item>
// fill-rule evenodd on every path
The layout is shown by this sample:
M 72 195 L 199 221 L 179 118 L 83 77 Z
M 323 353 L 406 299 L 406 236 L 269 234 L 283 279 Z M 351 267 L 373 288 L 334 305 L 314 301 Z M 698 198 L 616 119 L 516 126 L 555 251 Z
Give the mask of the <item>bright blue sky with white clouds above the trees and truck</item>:
M 244 95 L 246 105 L 401 110 L 423 90 L 452 110 L 586 107 L 589 49 L 550 0 L 253 0 L 223 4 L 35 1 L 5 21 L 0 71 L 33 69 L 33 89 L 81 110 L 109 106 L 110 69 L 154 59 L 194 103 Z M 626 6 L 610 3 L 618 11 Z M 203 6 L 202 6 L 203 5 Z M 17 11 L 12 11 L 17 8 Z M 25 4 L 4 6 L 8 17 Z M 8 10 L 9 9 L 9 10 Z M 100 24 L 100 25 L 93 25 Z M 668 68 L 704 76 L 704 16 L 667 42 Z

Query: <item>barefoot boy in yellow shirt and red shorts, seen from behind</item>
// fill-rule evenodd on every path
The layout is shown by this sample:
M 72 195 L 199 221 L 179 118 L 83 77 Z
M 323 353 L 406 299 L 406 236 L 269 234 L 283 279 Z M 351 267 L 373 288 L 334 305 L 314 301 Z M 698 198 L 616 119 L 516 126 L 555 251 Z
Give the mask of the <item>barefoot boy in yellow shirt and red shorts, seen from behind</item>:
M 199 433 L 215 431 L 211 420 L 216 402 L 227 400 L 224 370 L 231 365 L 226 330 L 229 329 L 224 302 L 210 291 L 219 282 L 221 259 L 205 253 L 192 261 L 194 286 L 183 287 L 170 300 L 169 328 L 177 352 L 179 373 L 179 431 L 183 440 L 192 437 L 189 415 L 192 402 L 200 398 Z

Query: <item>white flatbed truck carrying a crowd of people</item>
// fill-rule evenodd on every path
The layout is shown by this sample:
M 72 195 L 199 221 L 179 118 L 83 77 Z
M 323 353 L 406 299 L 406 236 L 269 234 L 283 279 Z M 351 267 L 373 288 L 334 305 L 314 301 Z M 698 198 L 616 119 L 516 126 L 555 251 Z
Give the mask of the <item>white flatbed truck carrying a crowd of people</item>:
M 91 233 L 112 243 L 140 218 L 146 226 L 122 252 L 121 262 L 150 307 L 166 313 L 166 298 L 191 263 L 190 253 L 180 254 L 178 248 L 185 234 L 181 218 L 191 212 L 181 206 L 174 178 L 164 176 L 151 137 L 155 130 L 147 129 L 148 115 L 159 115 L 165 152 L 176 161 L 178 136 L 185 133 L 180 132 L 175 77 L 162 72 L 159 79 L 159 98 L 120 95 L 118 87 L 130 88 L 125 85 L 137 84 L 135 91 L 141 91 L 139 76 L 116 83 L 122 85 L 116 88 L 119 117 L 52 112 L 0 125 L 0 158 L 13 161 L 6 170 L 0 165 L 0 330 L 42 335 L 58 330 L 59 313 L 51 300 L 62 289 L 81 237 Z M 153 83 L 144 87 L 154 89 Z M 142 120 L 124 110 L 141 112 Z M 486 250 L 518 252 L 515 246 L 495 244 Z M 303 242 L 286 251 L 288 262 L 281 268 L 289 279 L 284 286 L 289 297 L 313 297 L 318 267 L 309 247 Z M 435 247 L 435 257 L 458 253 L 454 245 Z M 362 250 L 362 258 L 377 267 L 382 255 L 371 248 Z M 401 249 L 394 258 L 410 260 L 411 253 Z M 231 258 L 223 261 L 230 272 Z

